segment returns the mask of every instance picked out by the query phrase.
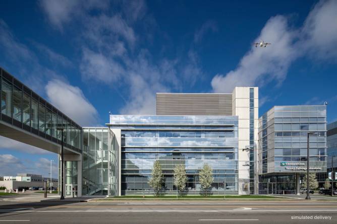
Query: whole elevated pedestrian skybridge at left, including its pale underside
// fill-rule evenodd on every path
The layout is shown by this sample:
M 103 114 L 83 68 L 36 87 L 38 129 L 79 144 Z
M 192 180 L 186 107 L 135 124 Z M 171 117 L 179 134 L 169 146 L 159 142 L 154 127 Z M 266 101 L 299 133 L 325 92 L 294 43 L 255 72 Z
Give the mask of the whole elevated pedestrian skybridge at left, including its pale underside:
M 61 154 L 63 128 L 64 153 L 82 154 L 80 125 L 1 67 L 0 82 L 0 135 Z

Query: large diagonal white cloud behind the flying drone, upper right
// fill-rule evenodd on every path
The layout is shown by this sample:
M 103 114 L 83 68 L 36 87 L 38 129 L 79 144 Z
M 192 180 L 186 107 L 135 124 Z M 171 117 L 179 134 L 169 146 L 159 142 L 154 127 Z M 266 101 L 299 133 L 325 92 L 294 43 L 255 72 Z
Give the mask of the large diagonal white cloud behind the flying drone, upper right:
M 308 53 L 315 60 L 337 59 L 337 2 L 320 1 L 306 18 L 303 27 L 293 30 L 284 16 L 270 18 L 256 40 L 272 44 L 252 46 L 235 70 L 216 74 L 213 92 L 230 93 L 236 86 L 263 86 L 271 81 L 282 83 L 289 66 Z

